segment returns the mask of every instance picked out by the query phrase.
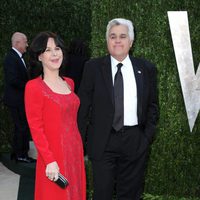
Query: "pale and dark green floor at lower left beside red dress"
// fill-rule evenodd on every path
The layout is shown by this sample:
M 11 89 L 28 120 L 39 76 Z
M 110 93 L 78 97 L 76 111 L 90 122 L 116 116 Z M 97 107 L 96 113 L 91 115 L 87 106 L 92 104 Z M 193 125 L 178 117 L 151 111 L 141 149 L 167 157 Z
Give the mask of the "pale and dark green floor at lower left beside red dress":
M 29 156 L 36 158 L 33 143 Z M 0 154 L 0 200 L 34 199 L 35 163 L 16 163 L 9 153 Z

